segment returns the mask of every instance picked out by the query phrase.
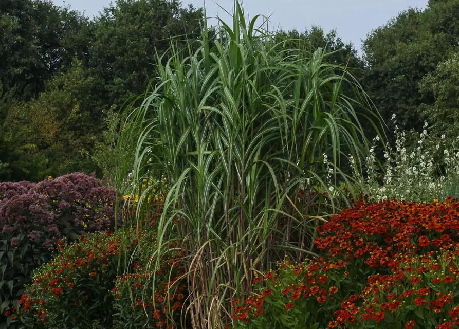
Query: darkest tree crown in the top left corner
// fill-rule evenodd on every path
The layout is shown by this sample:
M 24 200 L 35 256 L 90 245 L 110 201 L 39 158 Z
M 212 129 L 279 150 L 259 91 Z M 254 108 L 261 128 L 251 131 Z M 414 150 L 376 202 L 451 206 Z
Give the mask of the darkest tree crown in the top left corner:
M 27 100 L 45 81 L 84 59 L 91 24 L 79 12 L 50 0 L 0 2 L 0 80 L 3 93 Z

